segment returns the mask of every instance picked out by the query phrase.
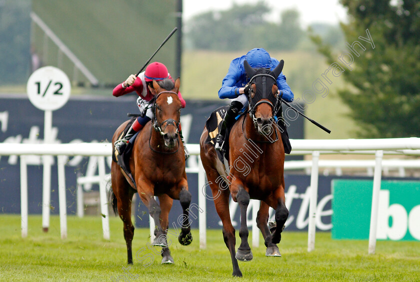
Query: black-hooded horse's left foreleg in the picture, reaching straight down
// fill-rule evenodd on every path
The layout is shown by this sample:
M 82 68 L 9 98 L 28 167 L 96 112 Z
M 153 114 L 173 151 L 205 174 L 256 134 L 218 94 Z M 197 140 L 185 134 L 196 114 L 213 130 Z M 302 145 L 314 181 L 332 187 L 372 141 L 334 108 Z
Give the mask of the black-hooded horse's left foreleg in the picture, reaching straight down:
M 249 262 L 252 260 L 251 248 L 248 244 L 248 226 L 246 225 L 246 210 L 249 204 L 249 193 L 243 188 L 242 181 L 237 178 L 232 181 L 230 185 L 230 193 L 233 200 L 236 200 L 240 208 L 240 245 L 237 248 L 235 258 L 236 260 Z

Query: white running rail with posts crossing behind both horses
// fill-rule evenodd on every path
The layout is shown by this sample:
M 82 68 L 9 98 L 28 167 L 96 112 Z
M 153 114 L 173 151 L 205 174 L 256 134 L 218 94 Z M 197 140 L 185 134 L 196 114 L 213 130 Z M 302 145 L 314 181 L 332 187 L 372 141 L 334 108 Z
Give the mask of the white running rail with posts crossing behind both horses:
M 377 210 L 378 210 L 378 196 L 381 180 L 382 157 L 384 154 L 400 154 L 400 155 L 419 155 L 420 154 L 420 138 L 389 138 L 389 139 L 347 139 L 347 140 L 290 140 L 293 147 L 292 155 L 297 154 L 311 154 L 311 197 L 309 206 L 309 226 L 308 226 L 308 248 L 310 252 L 314 250 L 315 244 L 315 218 L 316 218 L 316 198 L 317 198 L 317 179 L 318 168 L 322 161 L 319 161 L 319 155 L 326 154 L 351 154 L 368 153 L 374 154 L 374 176 L 373 176 L 373 199 L 371 209 L 370 231 L 369 231 L 369 246 L 368 253 L 373 254 L 376 245 L 376 226 L 377 226 Z M 187 144 L 187 148 L 191 155 L 199 154 L 198 144 Z M 109 239 L 109 223 L 108 210 L 106 203 L 105 192 L 105 173 L 104 173 L 104 157 L 111 155 L 110 143 L 80 143 L 80 144 L 10 144 L 0 143 L 0 155 L 19 155 L 20 162 L 20 178 L 21 178 L 21 215 L 22 215 L 22 237 L 27 235 L 27 176 L 26 176 L 26 155 L 53 155 L 59 156 L 58 166 L 64 165 L 64 158 L 67 156 L 98 156 L 102 158 L 99 165 L 103 169 L 99 169 L 99 193 L 101 194 L 101 212 L 105 217 L 102 217 L 102 230 L 105 239 Z M 305 164 L 306 165 L 306 164 Z M 331 164 L 327 164 L 331 165 Z M 371 166 L 371 162 L 365 163 L 366 166 Z M 354 164 L 353 164 L 354 166 Z M 357 164 L 357 167 L 360 164 Z M 294 168 L 297 166 L 294 165 Z M 407 167 L 418 167 L 418 163 L 410 162 Z M 287 168 L 287 163 L 285 164 Z M 191 172 L 196 172 L 196 169 L 191 169 Z M 205 186 L 204 172 L 199 164 L 198 167 L 198 204 L 203 213 L 199 214 L 199 234 L 200 234 L 200 248 L 205 248 L 205 196 L 201 193 L 202 187 Z M 64 191 L 64 173 L 61 168 L 58 168 L 58 186 L 59 191 Z M 64 188 L 63 188 L 64 187 Z M 62 195 L 65 197 L 65 193 Z M 59 195 L 61 197 L 61 195 Z M 314 199 L 314 200 L 313 200 Z M 59 203 L 65 203 L 60 200 Z M 25 205 L 26 204 L 26 205 Z M 61 205 L 60 205 L 61 206 Z M 256 206 L 256 205 L 255 205 Z M 254 206 L 254 207 L 255 207 Z M 105 209 L 105 208 L 106 209 Z M 60 212 L 61 212 L 60 208 Z M 60 219 L 65 220 L 65 216 Z M 255 220 L 253 220 L 255 221 Z M 65 238 L 66 226 L 65 222 L 60 222 L 61 237 Z M 252 230 L 253 234 L 258 234 L 255 228 Z M 202 241 L 203 240 L 203 241 Z M 254 240 L 252 241 L 254 243 Z M 253 244 L 254 245 L 254 244 Z

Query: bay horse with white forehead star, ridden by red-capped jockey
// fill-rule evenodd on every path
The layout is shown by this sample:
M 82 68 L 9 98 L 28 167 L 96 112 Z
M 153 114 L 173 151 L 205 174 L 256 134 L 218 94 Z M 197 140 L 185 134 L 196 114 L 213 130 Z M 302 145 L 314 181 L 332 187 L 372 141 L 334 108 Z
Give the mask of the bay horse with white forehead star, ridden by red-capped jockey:
M 181 110 L 179 78 L 174 83 L 169 78 L 158 82 L 153 80 L 152 85 L 157 93 L 151 107 L 152 120 L 145 124 L 133 143 L 129 158 L 132 178 L 115 161 L 111 164 L 110 203 L 123 223 L 128 264 L 133 263 L 131 200 L 134 193 L 138 193 L 154 221 L 152 245 L 162 247 L 162 264 L 173 263 L 166 240 L 168 214 L 173 200 L 179 200 L 183 210 L 178 241 L 181 245 L 189 245 L 192 241 L 188 221 L 191 194 L 188 192 L 183 144 L 178 134 Z M 112 142 L 118 139 L 127 123 L 117 128 Z M 154 196 L 159 199 L 159 204 Z

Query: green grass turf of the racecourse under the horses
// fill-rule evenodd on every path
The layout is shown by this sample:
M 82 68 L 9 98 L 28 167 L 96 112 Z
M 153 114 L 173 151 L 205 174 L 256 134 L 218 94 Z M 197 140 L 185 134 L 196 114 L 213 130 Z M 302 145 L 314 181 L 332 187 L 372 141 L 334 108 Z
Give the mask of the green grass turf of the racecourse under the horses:
M 60 239 L 57 216 L 50 218 L 47 234 L 41 231 L 38 215 L 29 216 L 28 229 L 22 239 L 20 216 L 0 216 L 0 281 L 116 281 L 127 267 L 119 218 L 110 218 L 110 241 L 102 238 L 100 217 L 67 217 L 66 240 Z M 134 264 L 129 269 L 133 277 L 126 275 L 127 281 L 238 281 L 231 277 L 221 230 L 207 231 L 207 248 L 201 251 L 197 230 L 186 247 L 169 235 L 175 264 L 160 265 L 160 256 L 153 255 L 152 264 L 143 267 L 145 261 L 137 261 L 135 253 L 146 248 L 147 234 L 147 229 L 134 232 Z M 237 248 L 237 232 L 236 242 Z M 286 230 L 278 245 L 282 258 L 265 257 L 262 237 L 260 242 L 259 248 L 252 248 L 251 262 L 239 262 L 241 281 L 420 280 L 420 242 L 379 241 L 376 254 L 368 255 L 367 241 L 335 241 L 330 233 L 316 233 L 315 250 L 308 253 L 307 233 Z

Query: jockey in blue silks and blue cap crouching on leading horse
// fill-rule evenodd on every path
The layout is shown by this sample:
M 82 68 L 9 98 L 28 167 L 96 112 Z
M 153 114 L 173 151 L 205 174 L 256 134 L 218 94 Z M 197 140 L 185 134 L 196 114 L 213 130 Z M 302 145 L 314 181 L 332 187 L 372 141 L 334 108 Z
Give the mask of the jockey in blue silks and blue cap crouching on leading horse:
M 244 111 L 248 107 L 248 91 L 249 86 L 245 88 L 246 84 L 249 82 L 251 77 L 247 77 L 245 69 L 243 67 L 243 61 L 246 60 L 249 65 L 253 68 L 269 68 L 273 70 L 277 64 L 278 60 L 271 58 L 267 51 L 263 48 L 254 48 L 246 53 L 244 56 L 233 59 L 230 62 L 229 70 L 227 71 L 226 76 L 223 78 L 221 83 L 221 88 L 218 91 L 218 96 L 220 99 L 229 98 L 231 99 L 229 109 L 224 116 L 222 121 L 220 132 L 217 136 L 216 144 L 214 148 L 216 150 L 221 150 L 222 144 L 224 142 L 224 137 L 226 134 L 226 128 L 230 128 L 235 122 L 235 118 L 238 113 Z M 281 72 L 277 77 L 277 87 L 278 87 L 278 97 L 283 98 L 287 102 L 293 101 L 293 92 L 291 92 L 290 87 L 286 83 L 286 77 Z M 286 131 L 286 126 L 282 118 L 281 108 L 278 111 L 277 115 L 277 125 L 280 127 L 281 139 L 284 145 L 284 152 L 286 154 L 290 153 L 291 146 L 288 139 L 288 134 Z

